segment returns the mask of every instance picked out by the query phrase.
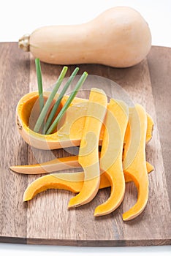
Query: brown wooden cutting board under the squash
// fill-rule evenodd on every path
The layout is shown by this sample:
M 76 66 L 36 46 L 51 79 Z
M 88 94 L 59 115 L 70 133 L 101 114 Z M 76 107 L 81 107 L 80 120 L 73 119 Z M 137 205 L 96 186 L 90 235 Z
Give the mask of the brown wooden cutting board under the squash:
M 72 193 L 50 189 L 23 203 L 23 192 L 38 176 L 9 170 L 48 159 L 48 152 L 28 146 L 15 128 L 15 108 L 20 97 L 37 90 L 34 59 L 18 50 L 17 43 L 0 43 L 0 241 L 22 244 L 73 246 L 147 246 L 170 244 L 171 166 L 171 48 L 152 47 L 148 59 L 135 67 L 115 69 L 96 64 L 79 65 L 80 73 L 99 75 L 120 84 L 134 102 L 142 104 L 155 122 L 147 160 L 155 170 L 149 174 L 148 205 L 139 217 L 122 221 L 122 213 L 136 200 L 134 184 L 126 184 L 121 206 L 105 217 L 94 218 L 94 208 L 110 195 L 102 189 L 86 206 L 67 210 Z M 75 66 L 69 67 L 69 72 Z M 52 85 L 61 66 L 42 64 L 44 87 Z M 96 85 L 96 79 L 92 81 Z M 104 84 L 104 90 L 107 84 Z M 111 92 L 115 95 L 115 91 Z M 63 150 L 54 151 L 56 156 Z

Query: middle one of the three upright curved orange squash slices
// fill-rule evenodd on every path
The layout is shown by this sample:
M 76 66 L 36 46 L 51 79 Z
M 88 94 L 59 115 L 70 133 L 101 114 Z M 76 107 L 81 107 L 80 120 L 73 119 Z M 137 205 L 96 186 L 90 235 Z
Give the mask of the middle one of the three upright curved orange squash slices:
M 128 116 L 128 108 L 123 102 L 110 99 L 104 123 L 100 167 L 110 181 L 111 193 L 106 202 L 96 207 L 95 217 L 110 214 L 120 206 L 123 200 L 125 179 L 122 168 L 122 150 Z

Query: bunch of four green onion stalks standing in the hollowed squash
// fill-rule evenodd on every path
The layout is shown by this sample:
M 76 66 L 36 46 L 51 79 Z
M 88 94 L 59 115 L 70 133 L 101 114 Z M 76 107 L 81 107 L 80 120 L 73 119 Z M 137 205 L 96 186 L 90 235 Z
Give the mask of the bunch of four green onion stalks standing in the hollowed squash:
M 85 82 L 88 76 L 88 73 L 83 72 L 83 75 L 81 76 L 80 80 L 78 80 L 74 91 L 72 91 L 72 94 L 70 94 L 69 98 L 66 100 L 64 107 L 60 110 L 60 112 L 58 113 L 58 116 L 56 116 L 55 120 L 53 121 L 53 118 L 56 115 L 56 111 L 58 110 L 58 107 L 61 103 L 61 99 L 64 97 L 64 94 L 66 93 L 66 90 L 69 88 L 69 85 L 72 83 L 72 80 L 74 80 L 75 76 L 77 75 L 79 68 L 77 67 L 74 70 L 74 72 L 72 72 L 72 75 L 69 77 L 64 88 L 59 94 L 58 99 L 56 100 L 56 103 L 53 105 L 53 109 L 50 111 L 50 115 L 48 116 L 47 121 L 45 123 L 45 117 L 47 116 L 47 113 L 50 110 L 50 105 L 52 104 L 53 99 L 56 96 L 59 86 L 61 86 L 61 83 L 64 80 L 68 67 L 64 67 L 62 69 L 61 74 L 59 75 L 58 80 L 56 81 L 56 85 L 54 86 L 53 91 L 50 93 L 50 96 L 48 97 L 47 102 L 44 105 L 44 97 L 43 97 L 43 89 L 42 89 L 42 71 L 41 71 L 39 59 L 35 59 L 35 64 L 36 64 L 36 70 L 37 70 L 40 114 L 34 126 L 34 132 L 41 131 L 42 134 L 50 135 L 54 131 L 54 129 L 56 129 L 58 122 L 61 120 L 62 116 L 64 116 L 64 113 L 69 108 L 69 105 L 71 104 L 72 100 L 75 98 L 77 91 L 80 89 L 81 86 L 83 86 L 83 83 Z M 53 121 L 53 124 L 51 124 L 52 121 Z M 43 130 L 42 130 L 42 124 L 44 124 Z

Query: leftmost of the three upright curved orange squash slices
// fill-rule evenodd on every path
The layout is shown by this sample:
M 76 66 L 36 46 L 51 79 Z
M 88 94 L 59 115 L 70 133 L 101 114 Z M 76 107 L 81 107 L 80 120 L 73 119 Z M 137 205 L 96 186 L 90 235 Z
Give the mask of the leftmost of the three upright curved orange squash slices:
M 99 135 L 106 108 L 107 97 L 104 91 L 91 89 L 78 156 L 78 162 L 85 173 L 84 183 L 80 193 L 69 201 L 69 208 L 90 202 L 99 190 Z

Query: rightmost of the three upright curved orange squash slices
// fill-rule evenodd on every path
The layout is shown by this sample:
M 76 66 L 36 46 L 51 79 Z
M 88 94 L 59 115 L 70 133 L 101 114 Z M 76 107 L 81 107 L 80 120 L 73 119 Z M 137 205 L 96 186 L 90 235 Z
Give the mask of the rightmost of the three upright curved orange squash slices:
M 148 173 L 145 163 L 145 137 L 147 115 L 141 105 L 129 109 L 129 146 L 125 146 L 123 172 L 130 176 L 138 190 L 137 203 L 123 214 L 123 220 L 134 219 L 145 208 L 148 201 Z

